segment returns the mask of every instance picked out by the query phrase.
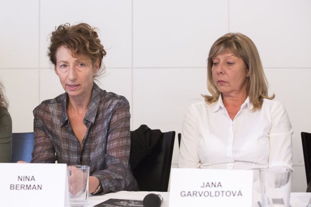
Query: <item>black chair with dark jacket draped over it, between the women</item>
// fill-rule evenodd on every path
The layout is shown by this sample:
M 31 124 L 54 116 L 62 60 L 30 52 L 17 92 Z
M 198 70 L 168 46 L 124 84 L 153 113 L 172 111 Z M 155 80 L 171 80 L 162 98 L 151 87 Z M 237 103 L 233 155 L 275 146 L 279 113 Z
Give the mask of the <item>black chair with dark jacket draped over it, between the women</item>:
M 129 163 L 140 191 L 167 192 L 175 131 L 161 132 L 141 125 L 131 131 Z

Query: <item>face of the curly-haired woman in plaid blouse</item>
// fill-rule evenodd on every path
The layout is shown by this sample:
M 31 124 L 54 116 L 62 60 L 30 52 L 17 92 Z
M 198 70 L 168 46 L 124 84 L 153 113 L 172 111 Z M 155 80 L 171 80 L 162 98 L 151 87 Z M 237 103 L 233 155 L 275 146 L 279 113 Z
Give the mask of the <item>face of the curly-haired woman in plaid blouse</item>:
M 72 52 L 64 46 L 57 49 L 54 70 L 70 99 L 91 98 L 93 77 L 99 69 L 98 62 L 92 64 L 86 56 L 73 57 Z

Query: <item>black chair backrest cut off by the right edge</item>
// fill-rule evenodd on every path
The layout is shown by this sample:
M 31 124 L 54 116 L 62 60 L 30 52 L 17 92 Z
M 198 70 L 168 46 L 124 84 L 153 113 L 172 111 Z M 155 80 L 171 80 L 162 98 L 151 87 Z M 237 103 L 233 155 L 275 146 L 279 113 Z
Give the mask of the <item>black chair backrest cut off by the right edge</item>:
M 311 182 L 311 133 L 301 132 L 307 184 Z

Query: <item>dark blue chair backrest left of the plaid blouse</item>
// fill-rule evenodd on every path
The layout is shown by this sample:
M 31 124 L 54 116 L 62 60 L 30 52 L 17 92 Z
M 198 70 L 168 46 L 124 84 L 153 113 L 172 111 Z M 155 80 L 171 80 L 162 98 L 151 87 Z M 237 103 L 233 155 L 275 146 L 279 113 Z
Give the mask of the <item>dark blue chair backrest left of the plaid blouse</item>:
M 23 160 L 30 162 L 33 150 L 34 133 L 12 133 L 12 156 L 11 162 Z

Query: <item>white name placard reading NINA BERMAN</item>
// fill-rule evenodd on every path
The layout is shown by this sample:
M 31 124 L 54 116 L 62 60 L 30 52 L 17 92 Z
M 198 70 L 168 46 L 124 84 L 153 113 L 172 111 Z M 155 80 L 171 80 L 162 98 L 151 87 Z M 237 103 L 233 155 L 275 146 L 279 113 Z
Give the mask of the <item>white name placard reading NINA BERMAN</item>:
M 0 206 L 68 207 L 66 164 L 0 163 Z

